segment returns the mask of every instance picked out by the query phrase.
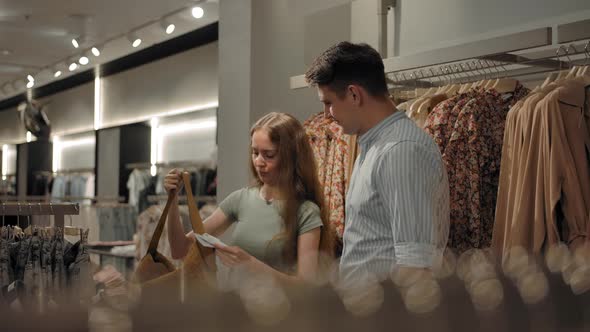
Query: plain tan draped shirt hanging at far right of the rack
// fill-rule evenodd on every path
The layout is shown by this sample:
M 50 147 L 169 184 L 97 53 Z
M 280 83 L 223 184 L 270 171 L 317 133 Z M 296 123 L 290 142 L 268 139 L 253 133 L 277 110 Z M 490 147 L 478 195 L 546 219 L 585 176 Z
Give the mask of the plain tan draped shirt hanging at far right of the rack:
M 540 253 L 558 242 L 575 249 L 586 241 L 590 188 L 583 184 L 590 181 L 590 134 L 584 99 L 583 82 L 562 81 L 529 112 L 524 165 L 533 167 L 511 180 L 517 209 L 512 219 L 498 222 L 504 227 L 494 232 L 500 237 L 495 243 L 504 244 L 499 251 L 522 246 Z

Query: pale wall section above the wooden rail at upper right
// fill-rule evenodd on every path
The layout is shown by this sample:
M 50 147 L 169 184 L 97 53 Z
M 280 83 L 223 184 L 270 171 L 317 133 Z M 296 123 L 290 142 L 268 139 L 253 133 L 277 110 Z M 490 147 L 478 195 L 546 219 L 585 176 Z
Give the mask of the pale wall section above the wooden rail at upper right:
M 398 0 L 399 54 L 590 18 L 588 0 Z

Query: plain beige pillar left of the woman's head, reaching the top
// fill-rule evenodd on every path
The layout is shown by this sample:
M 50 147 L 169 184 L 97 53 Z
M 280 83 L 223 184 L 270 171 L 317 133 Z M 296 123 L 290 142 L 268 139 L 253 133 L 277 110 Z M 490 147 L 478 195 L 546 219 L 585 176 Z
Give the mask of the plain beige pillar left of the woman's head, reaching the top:
M 223 0 L 219 12 L 218 199 L 248 182 L 252 0 Z

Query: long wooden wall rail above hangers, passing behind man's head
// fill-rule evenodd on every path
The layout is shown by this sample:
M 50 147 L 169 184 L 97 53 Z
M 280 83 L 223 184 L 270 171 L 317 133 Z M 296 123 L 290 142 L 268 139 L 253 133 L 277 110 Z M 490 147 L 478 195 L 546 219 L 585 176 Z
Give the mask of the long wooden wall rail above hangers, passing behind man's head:
M 559 44 L 590 39 L 590 20 L 557 26 L 558 44 L 553 43 L 553 30 L 553 27 L 544 27 L 412 55 L 383 59 L 385 73 L 388 74 L 390 82 L 393 81 L 398 85 L 431 87 L 433 83 L 424 81 L 424 79 L 457 74 L 456 68 L 459 68 L 457 63 L 468 60 L 492 61 L 495 64 L 488 64 L 485 68 L 480 66 L 471 70 L 463 69 L 461 73 L 514 65 L 513 67 L 516 68 L 512 71 L 505 70 L 504 75 L 518 77 L 567 69 L 575 62 L 568 61 L 568 63 L 565 63 L 560 61 L 561 58 L 585 54 L 583 52 L 585 46 L 584 43 L 570 44 L 569 46 Z M 574 52 L 568 52 L 568 47 Z M 552 58 L 556 57 L 557 60 L 552 60 Z M 430 76 L 423 74 L 418 77 L 417 72 L 419 70 L 424 71 L 425 68 L 434 66 L 442 66 L 440 68 L 443 68 L 443 70 L 438 70 L 438 74 L 431 73 Z M 403 80 L 392 79 L 391 77 L 392 75 L 404 77 L 402 74 L 405 72 L 408 75 Z M 409 79 L 408 76 L 410 76 Z M 485 75 L 481 74 L 479 76 Z M 290 86 L 291 89 L 299 89 L 308 85 L 305 82 L 304 75 L 299 75 L 291 77 Z

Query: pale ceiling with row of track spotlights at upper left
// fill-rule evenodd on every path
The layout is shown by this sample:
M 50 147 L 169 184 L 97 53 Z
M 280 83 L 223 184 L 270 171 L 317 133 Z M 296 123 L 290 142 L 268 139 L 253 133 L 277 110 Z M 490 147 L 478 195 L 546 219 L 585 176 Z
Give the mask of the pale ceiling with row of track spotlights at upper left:
M 191 8 L 204 16 L 195 19 Z M 166 34 L 162 18 L 176 29 Z M 218 21 L 217 0 L 0 0 L 0 100 L 26 91 L 27 75 L 34 87 L 63 79 L 183 33 Z M 142 39 L 133 48 L 130 32 Z M 72 38 L 82 36 L 78 49 Z M 90 53 L 98 46 L 99 57 Z M 87 65 L 70 72 L 85 55 Z M 54 72 L 63 74 L 54 77 Z M 33 87 L 33 88 L 34 88 Z

